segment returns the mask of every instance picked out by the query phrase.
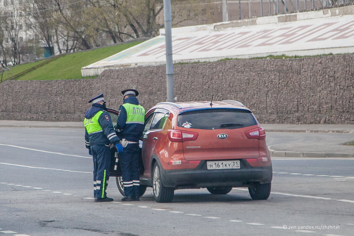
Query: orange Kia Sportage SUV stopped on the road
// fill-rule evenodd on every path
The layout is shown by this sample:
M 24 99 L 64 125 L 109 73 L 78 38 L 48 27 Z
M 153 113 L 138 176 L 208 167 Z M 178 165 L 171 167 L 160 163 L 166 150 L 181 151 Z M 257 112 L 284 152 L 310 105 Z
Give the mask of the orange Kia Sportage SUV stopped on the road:
M 238 101 L 158 103 L 145 115 L 142 140 L 141 195 L 150 186 L 156 202 L 171 202 L 176 189 L 248 187 L 252 199 L 270 195 L 264 129 Z

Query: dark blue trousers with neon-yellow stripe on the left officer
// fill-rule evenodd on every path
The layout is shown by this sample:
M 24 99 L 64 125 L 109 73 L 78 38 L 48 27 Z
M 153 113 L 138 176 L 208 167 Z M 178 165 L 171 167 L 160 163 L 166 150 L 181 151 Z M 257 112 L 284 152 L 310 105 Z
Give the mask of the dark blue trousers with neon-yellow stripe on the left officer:
M 93 196 L 106 197 L 109 180 L 110 148 L 105 145 L 91 145 L 93 159 Z

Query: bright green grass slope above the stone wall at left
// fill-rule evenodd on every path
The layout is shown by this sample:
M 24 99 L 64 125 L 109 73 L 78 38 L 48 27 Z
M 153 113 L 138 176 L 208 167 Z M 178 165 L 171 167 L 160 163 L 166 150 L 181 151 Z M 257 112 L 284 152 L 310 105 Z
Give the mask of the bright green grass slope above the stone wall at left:
M 97 48 L 86 52 L 77 52 L 59 57 L 48 64 L 42 65 L 33 71 L 19 77 L 17 80 L 59 80 L 59 79 L 93 79 L 97 76 L 81 76 L 81 68 L 94 62 L 112 56 L 126 48 L 141 42 L 131 42 L 111 47 Z M 17 65 L 10 68 L 13 76 L 34 67 L 43 61 Z

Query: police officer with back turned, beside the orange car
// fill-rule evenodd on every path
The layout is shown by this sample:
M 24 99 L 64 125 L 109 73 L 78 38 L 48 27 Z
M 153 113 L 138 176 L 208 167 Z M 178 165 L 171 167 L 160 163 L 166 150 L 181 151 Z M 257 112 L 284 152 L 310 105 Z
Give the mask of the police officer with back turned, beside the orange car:
M 139 201 L 139 139 L 144 131 L 145 109 L 139 105 L 136 98 L 138 91 L 134 89 L 123 90 L 123 105 L 119 107 L 119 116 L 115 130 L 123 145 L 123 152 L 119 155 L 122 178 L 124 184 L 124 197 L 122 201 Z

